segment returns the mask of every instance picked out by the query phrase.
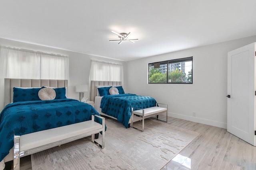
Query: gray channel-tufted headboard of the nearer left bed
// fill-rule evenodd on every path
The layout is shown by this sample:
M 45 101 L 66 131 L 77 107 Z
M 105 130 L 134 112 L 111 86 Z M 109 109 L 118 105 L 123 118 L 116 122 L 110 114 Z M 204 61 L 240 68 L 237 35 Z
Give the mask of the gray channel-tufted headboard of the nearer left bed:
M 68 87 L 68 80 L 47 80 L 47 79 L 4 79 L 4 106 L 13 101 L 13 87 Z M 68 93 L 68 89 L 66 91 Z

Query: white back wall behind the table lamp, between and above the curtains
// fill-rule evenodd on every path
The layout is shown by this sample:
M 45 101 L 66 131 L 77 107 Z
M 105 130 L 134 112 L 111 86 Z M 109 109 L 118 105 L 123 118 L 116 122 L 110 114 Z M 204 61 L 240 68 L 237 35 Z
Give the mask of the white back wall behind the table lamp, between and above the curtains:
M 69 96 L 69 98 L 73 98 L 73 99 L 77 99 L 77 100 L 79 99 L 79 93 L 75 92 L 75 86 L 77 84 L 88 84 L 89 85 L 91 59 L 98 60 L 98 61 L 106 61 L 106 62 L 124 64 L 124 62 L 122 62 L 122 61 L 107 59 L 104 57 L 76 53 L 76 52 L 72 52 L 72 51 L 66 51 L 66 50 L 61 50 L 61 49 L 56 49 L 56 48 L 51 48 L 51 47 L 45 47 L 45 46 L 41 46 L 41 45 L 34 45 L 34 44 L 30 44 L 30 43 L 22 43 L 19 41 L 13 41 L 13 40 L 8 40 L 8 39 L 0 38 L 0 45 L 69 56 L 68 96 Z M 0 94 L 0 95 L 4 95 L 4 94 Z M 89 95 L 90 95 L 89 91 L 85 92 L 84 97 L 88 98 Z

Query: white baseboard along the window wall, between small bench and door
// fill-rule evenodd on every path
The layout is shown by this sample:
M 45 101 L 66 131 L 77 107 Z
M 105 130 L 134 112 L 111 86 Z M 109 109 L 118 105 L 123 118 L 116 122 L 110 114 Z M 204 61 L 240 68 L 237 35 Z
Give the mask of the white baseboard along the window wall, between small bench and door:
M 227 123 L 168 112 L 168 116 L 227 129 Z

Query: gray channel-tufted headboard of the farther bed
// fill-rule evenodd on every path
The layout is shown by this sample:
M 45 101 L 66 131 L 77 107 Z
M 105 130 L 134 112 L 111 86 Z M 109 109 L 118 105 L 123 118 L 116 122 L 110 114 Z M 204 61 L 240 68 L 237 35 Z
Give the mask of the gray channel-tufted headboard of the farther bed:
M 96 86 L 122 86 L 122 82 L 115 81 L 91 81 L 91 101 L 94 102 L 95 96 L 97 96 Z

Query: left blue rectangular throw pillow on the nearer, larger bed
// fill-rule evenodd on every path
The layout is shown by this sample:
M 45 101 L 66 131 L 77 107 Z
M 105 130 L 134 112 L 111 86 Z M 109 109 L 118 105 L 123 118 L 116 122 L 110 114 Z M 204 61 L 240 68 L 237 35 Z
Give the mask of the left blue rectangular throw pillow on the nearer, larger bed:
M 13 102 L 25 102 L 25 101 L 34 101 L 40 100 L 38 97 L 38 92 L 41 88 L 13 88 Z

